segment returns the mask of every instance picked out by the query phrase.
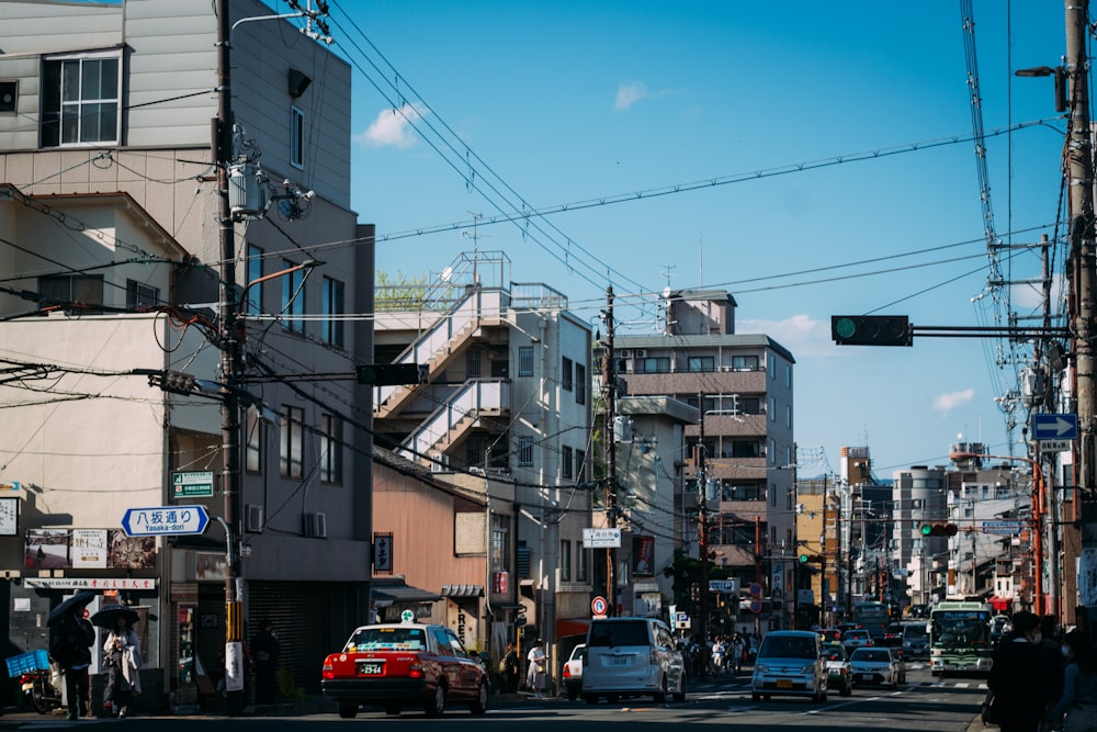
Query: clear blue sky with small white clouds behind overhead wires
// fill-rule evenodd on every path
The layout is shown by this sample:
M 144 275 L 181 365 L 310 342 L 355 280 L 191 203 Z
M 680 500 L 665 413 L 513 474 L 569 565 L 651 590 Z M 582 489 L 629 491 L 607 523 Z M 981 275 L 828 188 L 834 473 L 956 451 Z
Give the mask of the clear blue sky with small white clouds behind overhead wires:
M 1063 7 L 972 4 L 995 230 L 1054 238 L 1065 125 L 1051 79 L 1013 71 L 1061 61 Z M 995 402 L 1014 373 L 995 342 L 830 340 L 833 314 L 993 324 L 989 296 L 973 302 L 988 263 L 960 2 L 331 7 L 354 67 L 352 207 L 377 226 L 378 269 L 437 274 L 482 214 L 479 247 L 505 251 L 512 280 L 584 317 L 612 284 L 619 333 L 652 331 L 667 284 L 732 292 L 738 331 L 796 357 L 803 453 L 837 466 L 868 446 L 890 477 L 947 463 L 961 433 L 1024 452 Z M 489 223 L 522 207 L 552 213 Z M 1003 270 L 1037 277 L 1039 252 Z M 1038 300 L 1021 286 L 1013 303 L 1027 316 Z

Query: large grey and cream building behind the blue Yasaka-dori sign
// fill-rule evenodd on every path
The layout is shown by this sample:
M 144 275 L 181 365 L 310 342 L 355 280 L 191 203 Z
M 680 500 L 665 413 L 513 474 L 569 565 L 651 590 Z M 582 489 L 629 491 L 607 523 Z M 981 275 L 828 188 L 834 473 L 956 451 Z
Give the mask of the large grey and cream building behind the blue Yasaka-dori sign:
M 373 270 L 349 209 L 350 67 L 256 0 L 2 7 L 0 353 L 19 370 L 0 393 L 0 480 L 20 509 L 0 537 L 9 640 L 42 647 L 50 607 L 105 588 L 147 611 L 146 665 L 182 699 L 219 675 L 230 584 L 250 630 L 271 617 L 282 665 L 315 687 L 371 576 L 370 393 L 309 375 L 371 360 L 367 319 L 344 318 L 371 311 Z M 218 148 L 225 109 L 233 144 Z M 361 244 L 316 261 L 330 241 Z M 234 269 L 236 304 L 220 302 Z M 233 365 L 218 363 L 240 335 L 247 414 L 222 415 Z M 201 536 L 133 549 L 118 531 L 131 509 L 179 504 L 205 507 Z

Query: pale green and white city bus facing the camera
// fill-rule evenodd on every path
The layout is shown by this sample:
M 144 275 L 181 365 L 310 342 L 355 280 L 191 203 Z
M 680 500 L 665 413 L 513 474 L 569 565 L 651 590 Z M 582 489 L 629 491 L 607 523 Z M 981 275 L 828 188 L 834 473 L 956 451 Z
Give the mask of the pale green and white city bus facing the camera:
M 929 610 L 929 669 L 986 674 L 991 671 L 991 607 L 986 603 L 943 601 Z

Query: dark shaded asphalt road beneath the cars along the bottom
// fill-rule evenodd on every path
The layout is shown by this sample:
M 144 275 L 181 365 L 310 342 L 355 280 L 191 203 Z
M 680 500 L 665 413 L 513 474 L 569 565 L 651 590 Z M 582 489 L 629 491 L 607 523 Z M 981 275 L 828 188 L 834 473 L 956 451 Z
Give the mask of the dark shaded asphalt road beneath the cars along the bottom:
M 365 730 L 425 732 L 433 730 L 483 732 L 666 732 L 680 724 L 733 725 L 754 730 L 795 729 L 858 730 L 863 732 L 964 732 L 977 716 L 985 694 L 983 679 L 936 679 L 920 663 L 908 666 L 907 684 L 897 689 L 857 688 L 851 697 L 830 696 L 824 705 L 808 699 L 751 701 L 749 672 L 736 677 L 722 676 L 704 684 L 694 683 L 682 703 L 656 705 L 649 699 L 631 699 L 614 705 L 588 706 L 581 700 L 496 700 L 484 717 L 474 717 L 462 708 L 450 708 L 440 719 L 427 719 L 409 710 L 399 717 L 364 709 L 353 720 L 335 713 L 298 717 L 176 716 L 150 719 L 95 720 L 66 722 L 64 718 L 36 714 L 0 717 L 0 730 L 87 728 L 99 724 L 150 729 L 157 732 L 184 730 L 233 730 L 233 732 L 290 732 L 291 730 Z M 201 724 L 201 728 L 199 727 Z M 563 725 L 563 727 L 562 727 Z M 975 725 L 980 728 L 980 725 Z M 974 730 L 973 730 L 974 732 Z

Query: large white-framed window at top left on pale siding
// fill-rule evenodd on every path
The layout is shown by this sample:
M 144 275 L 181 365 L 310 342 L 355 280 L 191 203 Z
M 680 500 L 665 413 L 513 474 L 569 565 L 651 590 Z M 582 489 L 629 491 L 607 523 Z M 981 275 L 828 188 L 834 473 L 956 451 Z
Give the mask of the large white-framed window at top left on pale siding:
M 42 64 L 42 147 L 117 144 L 120 52 L 53 56 Z

